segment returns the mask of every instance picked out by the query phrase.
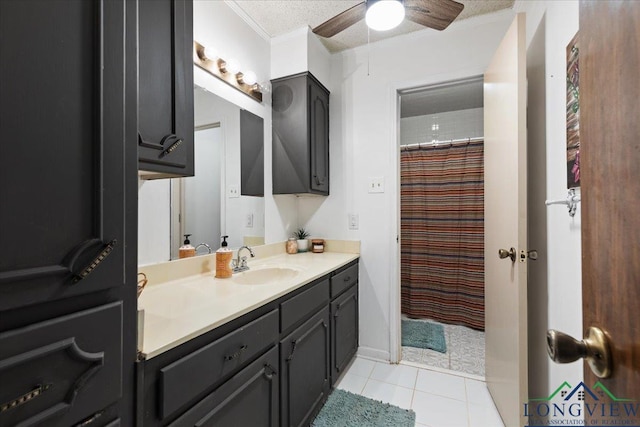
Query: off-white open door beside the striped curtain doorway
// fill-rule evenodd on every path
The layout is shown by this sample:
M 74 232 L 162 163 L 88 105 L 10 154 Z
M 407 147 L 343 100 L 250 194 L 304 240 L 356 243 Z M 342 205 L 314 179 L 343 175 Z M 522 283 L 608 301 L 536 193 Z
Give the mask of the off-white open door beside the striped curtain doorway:
M 525 17 L 516 16 L 485 72 L 486 380 L 507 426 L 527 397 Z M 512 249 L 513 248 L 513 249 Z M 498 250 L 514 251 L 514 260 Z

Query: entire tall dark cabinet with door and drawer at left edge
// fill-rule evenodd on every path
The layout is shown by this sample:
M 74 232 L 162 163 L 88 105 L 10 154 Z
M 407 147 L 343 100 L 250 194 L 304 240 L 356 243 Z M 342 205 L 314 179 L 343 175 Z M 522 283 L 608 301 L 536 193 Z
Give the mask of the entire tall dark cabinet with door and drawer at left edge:
M 2 426 L 133 425 L 136 11 L 0 2 Z

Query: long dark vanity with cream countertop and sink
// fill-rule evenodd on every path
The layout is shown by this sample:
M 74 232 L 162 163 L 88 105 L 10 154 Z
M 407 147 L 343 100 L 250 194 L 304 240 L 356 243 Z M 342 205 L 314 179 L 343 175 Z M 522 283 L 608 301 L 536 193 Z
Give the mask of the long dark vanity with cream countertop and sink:
M 308 425 L 358 346 L 359 244 L 327 247 L 256 247 L 230 279 L 215 255 L 140 268 L 137 425 Z

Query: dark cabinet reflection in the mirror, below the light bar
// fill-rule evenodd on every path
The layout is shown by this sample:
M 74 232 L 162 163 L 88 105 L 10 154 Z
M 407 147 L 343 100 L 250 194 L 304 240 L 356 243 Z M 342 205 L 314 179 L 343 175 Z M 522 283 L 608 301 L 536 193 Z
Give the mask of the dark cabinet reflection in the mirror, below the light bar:
M 264 120 L 240 110 L 240 194 L 264 196 Z

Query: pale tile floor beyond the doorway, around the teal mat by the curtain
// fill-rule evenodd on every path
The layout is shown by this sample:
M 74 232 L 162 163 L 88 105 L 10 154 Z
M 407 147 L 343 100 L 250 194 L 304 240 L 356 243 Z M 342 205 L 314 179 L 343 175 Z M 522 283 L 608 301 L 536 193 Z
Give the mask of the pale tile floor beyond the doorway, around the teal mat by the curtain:
M 429 322 L 439 323 L 433 320 Z M 402 347 L 402 360 L 484 377 L 484 332 L 460 325 L 441 325 L 444 326 L 447 341 L 446 353 L 427 348 Z

